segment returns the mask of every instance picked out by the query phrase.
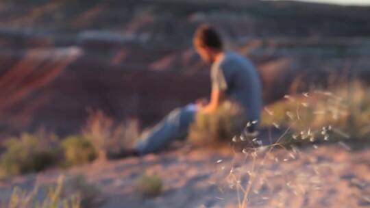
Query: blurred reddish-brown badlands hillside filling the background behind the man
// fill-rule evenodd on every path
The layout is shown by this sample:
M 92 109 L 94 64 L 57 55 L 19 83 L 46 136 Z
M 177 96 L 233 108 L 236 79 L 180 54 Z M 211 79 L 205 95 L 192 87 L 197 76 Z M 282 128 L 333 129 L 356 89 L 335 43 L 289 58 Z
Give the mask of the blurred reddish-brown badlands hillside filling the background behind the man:
M 325 86 L 332 74 L 370 80 L 369 7 L 14 0 L 0 8 L 0 133 L 40 126 L 73 133 L 89 109 L 120 121 L 136 117 L 147 127 L 208 96 L 209 66 L 192 48 L 194 29 L 204 22 L 256 64 L 266 103 Z

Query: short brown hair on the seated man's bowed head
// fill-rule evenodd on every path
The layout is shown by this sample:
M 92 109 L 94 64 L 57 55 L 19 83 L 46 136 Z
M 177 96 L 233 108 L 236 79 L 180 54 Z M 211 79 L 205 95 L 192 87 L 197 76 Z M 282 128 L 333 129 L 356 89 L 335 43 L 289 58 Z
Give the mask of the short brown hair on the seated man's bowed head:
M 223 49 L 223 43 L 219 33 L 208 24 L 200 25 L 197 28 L 193 42 L 200 47 L 209 47 L 217 50 Z

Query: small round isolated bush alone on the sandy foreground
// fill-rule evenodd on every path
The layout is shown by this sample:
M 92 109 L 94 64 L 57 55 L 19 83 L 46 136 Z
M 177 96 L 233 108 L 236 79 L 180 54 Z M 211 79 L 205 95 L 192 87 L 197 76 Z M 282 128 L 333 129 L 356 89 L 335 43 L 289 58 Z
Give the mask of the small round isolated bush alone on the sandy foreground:
M 158 196 L 162 192 L 162 185 L 158 175 L 143 174 L 136 179 L 136 188 L 143 196 Z

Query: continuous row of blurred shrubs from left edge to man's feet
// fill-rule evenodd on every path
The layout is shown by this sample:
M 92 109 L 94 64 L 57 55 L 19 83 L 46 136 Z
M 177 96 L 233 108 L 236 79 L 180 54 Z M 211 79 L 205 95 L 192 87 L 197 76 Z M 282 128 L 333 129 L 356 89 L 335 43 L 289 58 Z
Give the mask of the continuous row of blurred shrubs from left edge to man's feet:
M 138 122 L 114 125 L 103 112 L 91 114 L 79 135 L 59 140 L 46 131 L 23 133 L 4 142 L 0 156 L 0 176 L 38 172 L 51 166 L 75 166 L 100 159 L 119 157 L 125 146 L 138 138 Z

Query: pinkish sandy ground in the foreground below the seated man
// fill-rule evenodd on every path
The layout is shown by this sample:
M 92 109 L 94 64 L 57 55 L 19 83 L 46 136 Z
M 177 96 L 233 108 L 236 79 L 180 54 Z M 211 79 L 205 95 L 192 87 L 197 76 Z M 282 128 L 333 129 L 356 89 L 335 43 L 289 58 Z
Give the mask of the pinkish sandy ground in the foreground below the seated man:
M 249 183 L 248 207 L 370 207 L 369 158 L 370 146 L 345 143 L 237 154 L 230 148 L 180 148 L 14 177 L 1 181 L 0 197 L 6 200 L 14 186 L 30 190 L 36 181 L 47 185 L 60 174 L 84 174 L 101 187 L 106 208 L 238 207 Z M 162 177 L 160 196 L 138 194 L 135 181 L 143 172 Z

